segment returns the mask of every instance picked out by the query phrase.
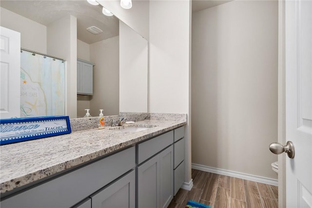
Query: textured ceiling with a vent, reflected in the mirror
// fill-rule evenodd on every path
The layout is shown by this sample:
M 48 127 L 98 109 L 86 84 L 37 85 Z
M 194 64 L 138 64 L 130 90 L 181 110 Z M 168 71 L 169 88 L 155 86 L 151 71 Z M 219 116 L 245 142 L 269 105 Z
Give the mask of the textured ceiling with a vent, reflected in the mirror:
M 88 44 L 119 34 L 119 20 L 102 14 L 100 5 L 86 0 L 0 0 L 0 6 L 45 26 L 68 14 L 77 18 L 77 38 Z M 86 30 L 96 26 L 104 32 L 94 35 Z

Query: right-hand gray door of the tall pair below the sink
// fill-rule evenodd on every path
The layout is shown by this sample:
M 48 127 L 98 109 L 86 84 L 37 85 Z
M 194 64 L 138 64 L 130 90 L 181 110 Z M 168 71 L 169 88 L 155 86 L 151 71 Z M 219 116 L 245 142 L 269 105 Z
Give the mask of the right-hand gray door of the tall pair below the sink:
M 173 181 L 173 146 L 159 153 L 159 177 L 160 177 L 160 207 L 166 208 L 173 199 L 174 181 Z

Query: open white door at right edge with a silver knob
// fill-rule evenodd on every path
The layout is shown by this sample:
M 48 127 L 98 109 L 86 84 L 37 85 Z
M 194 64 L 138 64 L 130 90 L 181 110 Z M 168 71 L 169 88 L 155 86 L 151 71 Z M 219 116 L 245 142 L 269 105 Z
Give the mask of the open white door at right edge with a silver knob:
M 312 0 L 286 0 L 287 208 L 312 208 Z

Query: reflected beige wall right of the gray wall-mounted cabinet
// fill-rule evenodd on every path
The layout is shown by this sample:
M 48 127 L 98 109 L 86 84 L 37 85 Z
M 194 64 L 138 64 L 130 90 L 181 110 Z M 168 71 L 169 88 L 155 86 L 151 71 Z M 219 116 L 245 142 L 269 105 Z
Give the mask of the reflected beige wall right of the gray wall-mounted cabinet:
M 93 96 L 90 114 L 119 115 L 119 36 L 90 44 L 93 67 Z

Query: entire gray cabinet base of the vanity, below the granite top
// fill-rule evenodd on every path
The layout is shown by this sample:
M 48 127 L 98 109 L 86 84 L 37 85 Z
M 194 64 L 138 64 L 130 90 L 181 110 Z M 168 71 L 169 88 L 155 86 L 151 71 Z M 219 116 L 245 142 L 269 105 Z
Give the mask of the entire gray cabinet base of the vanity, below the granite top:
M 166 208 L 184 182 L 183 136 L 177 128 L 79 166 L 2 198 L 1 208 Z

